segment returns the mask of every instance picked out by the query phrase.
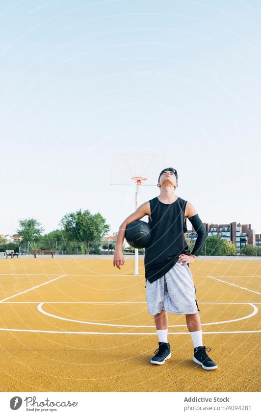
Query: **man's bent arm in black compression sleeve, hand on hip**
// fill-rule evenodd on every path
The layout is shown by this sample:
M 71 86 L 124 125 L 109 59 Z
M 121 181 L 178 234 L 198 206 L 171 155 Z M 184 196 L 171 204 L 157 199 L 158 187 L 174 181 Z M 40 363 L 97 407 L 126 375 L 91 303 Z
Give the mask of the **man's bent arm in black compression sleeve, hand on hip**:
M 186 204 L 185 218 L 188 218 L 188 220 L 193 225 L 197 233 L 197 240 L 190 255 L 184 253 L 180 255 L 178 263 L 182 263 L 183 266 L 187 263 L 193 263 L 196 260 L 207 237 L 207 232 L 204 228 L 204 225 L 199 218 L 197 211 L 190 202 L 187 202 Z

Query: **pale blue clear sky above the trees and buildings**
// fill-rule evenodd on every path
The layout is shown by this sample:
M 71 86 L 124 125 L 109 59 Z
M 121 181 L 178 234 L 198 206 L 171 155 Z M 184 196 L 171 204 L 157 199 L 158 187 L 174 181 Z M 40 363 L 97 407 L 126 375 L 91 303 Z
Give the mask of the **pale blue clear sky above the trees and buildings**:
M 0 7 L 0 234 L 79 208 L 117 231 L 134 187 L 110 185 L 112 152 L 167 154 L 203 221 L 261 233 L 260 1 Z

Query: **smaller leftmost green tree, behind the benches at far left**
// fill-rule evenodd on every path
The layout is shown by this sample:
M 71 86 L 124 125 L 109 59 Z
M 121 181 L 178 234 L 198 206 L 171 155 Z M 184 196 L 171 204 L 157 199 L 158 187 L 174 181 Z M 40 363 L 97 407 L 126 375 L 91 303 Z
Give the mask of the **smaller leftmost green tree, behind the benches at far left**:
M 19 228 L 16 230 L 16 234 L 21 238 L 19 245 L 26 247 L 28 241 L 35 248 L 44 229 L 42 224 L 34 218 L 26 218 L 25 220 L 19 220 Z

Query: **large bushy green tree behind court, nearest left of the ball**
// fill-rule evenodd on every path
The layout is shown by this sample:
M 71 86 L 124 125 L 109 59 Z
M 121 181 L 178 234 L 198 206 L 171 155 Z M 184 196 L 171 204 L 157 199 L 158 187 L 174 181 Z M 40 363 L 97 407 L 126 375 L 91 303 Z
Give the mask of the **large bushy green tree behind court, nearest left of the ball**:
M 101 244 L 102 238 L 110 229 L 104 217 L 98 212 L 92 215 L 89 210 L 71 212 L 60 221 L 67 240 L 83 244 L 85 254 L 89 254 L 91 244 Z

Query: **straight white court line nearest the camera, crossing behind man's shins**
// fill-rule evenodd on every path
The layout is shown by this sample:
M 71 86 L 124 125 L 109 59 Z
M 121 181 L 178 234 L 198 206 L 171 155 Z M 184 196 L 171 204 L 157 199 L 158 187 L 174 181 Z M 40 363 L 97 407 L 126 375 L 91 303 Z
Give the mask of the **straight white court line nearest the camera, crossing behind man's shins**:
M 88 334 L 88 335 L 156 335 L 157 332 L 82 332 L 82 331 L 43 331 L 40 329 L 10 329 L 0 328 L 0 331 L 9 332 L 40 332 L 45 334 Z M 261 331 L 217 331 L 203 332 L 203 334 L 252 334 Z M 189 335 L 189 332 L 168 332 L 169 335 Z

